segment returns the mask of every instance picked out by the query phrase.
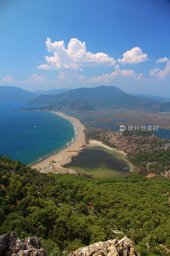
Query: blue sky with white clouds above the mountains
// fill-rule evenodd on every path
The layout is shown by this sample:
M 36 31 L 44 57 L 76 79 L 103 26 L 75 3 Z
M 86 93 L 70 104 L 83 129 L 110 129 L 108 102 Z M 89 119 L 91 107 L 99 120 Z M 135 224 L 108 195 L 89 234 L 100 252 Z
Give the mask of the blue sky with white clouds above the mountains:
M 170 96 L 170 1 L 0 4 L 1 85 L 36 91 L 105 84 Z

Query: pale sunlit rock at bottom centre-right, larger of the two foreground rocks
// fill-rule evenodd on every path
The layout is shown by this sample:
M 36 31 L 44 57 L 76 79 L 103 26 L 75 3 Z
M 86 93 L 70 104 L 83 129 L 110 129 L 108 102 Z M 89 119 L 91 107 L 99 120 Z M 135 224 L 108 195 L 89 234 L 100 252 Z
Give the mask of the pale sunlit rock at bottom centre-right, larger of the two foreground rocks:
M 133 242 L 125 236 L 117 239 L 98 242 L 71 252 L 68 256 L 140 256 Z

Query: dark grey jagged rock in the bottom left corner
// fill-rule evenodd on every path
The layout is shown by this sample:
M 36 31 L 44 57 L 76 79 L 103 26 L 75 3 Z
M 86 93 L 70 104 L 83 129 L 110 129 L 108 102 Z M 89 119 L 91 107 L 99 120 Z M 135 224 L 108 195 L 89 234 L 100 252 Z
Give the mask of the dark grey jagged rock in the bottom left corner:
M 0 256 L 48 256 L 37 236 L 20 240 L 17 233 L 0 236 Z

